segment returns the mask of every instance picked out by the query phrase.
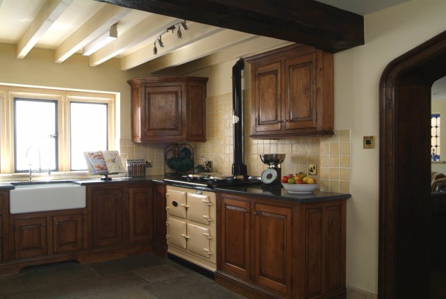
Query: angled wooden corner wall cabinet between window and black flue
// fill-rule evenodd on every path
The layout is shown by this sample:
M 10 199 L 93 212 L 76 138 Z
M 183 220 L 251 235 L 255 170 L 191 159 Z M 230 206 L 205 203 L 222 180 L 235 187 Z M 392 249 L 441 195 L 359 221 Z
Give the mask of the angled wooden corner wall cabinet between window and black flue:
M 208 78 L 129 80 L 132 141 L 206 141 Z

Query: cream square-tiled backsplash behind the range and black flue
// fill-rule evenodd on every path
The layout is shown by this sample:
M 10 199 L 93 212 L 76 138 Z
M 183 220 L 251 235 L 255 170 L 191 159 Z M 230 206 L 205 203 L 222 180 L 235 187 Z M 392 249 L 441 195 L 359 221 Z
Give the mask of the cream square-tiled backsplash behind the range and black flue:
M 308 165 L 317 167 L 316 177 L 323 191 L 350 191 L 350 130 L 336 130 L 334 136 L 293 137 L 280 140 L 254 140 L 251 133 L 250 92 L 244 96 L 244 149 L 249 175 L 261 175 L 265 165 L 258 157 L 264 153 L 286 154 L 282 173 L 308 172 Z M 200 156 L 213 161 L 213 172 L 231 173 L 233 163 L 232 94 L 206 99 L 206 143 L 190 143 L 195 152 L 195 165 Z M 120 140 L 120 153 L 125 159 L 151 160 L 150 175 L 165 173 L 164 149 L 170 143 L 134 144 Z

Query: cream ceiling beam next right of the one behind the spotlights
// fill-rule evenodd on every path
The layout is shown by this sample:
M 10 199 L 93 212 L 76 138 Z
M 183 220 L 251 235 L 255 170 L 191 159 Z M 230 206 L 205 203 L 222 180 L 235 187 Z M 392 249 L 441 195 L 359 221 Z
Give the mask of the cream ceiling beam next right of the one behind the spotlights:
M 198 40 L 189 47 L 183 47 L 170 54 L 149 61 L 149 63 L 144 65 L 144 70 L 151 73 L 167 67 L 188 63 L 189 61 L 213 54 L 217 51 L 222 51 L 240 42 L 246 42 L 257 37 L 254 34 L 225 29 L 207 38 Z

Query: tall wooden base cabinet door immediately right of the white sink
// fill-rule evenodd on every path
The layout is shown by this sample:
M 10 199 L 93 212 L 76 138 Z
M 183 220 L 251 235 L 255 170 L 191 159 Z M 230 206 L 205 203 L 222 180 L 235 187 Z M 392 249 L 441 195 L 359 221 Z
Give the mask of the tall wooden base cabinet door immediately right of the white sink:
M 93 191 L 93 247 L 122 245 L 122 188 Z

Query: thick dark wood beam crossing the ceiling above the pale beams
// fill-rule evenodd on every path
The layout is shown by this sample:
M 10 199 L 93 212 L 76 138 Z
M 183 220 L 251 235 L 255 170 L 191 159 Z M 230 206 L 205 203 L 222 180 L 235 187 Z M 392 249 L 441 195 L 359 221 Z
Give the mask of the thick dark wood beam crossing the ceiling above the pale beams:
M 336 53 L 364 45 L 364 19 L 313 0 L 96 0 L 311 45 Z

